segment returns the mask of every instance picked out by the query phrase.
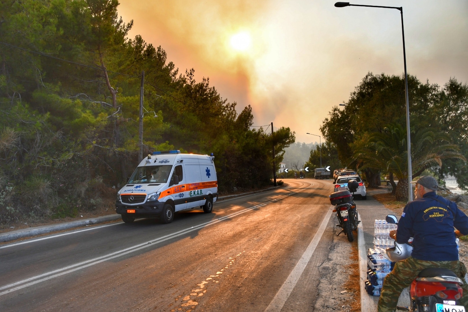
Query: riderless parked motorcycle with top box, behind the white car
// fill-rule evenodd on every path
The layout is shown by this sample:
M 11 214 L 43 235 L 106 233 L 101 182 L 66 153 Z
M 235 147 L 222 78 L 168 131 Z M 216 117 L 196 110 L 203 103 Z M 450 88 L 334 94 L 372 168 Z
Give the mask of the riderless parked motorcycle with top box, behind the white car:
M 344 190 L 339 190 L 329 195 L 330 203 L 335 205 L 333 212 L 336 212 L 336 218 L 338 218 L 339 226 L 342 231 L 338 233 L 345 233 L 348 240 L 351 242 L 354 240 L 352 231 L 358 229 L 358 212 L 356 211 L 356 204 L 353 201 L 351 192 L 356 192 L 359 183 L 356 180 L 348 181 L 348 186 Z

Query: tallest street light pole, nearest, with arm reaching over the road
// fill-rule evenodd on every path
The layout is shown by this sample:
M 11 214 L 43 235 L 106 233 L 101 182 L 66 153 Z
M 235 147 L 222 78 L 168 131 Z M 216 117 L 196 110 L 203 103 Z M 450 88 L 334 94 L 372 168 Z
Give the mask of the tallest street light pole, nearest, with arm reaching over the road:
M 349 2 L 336 2 L 335 7 L 383 7 L 369 6 L 362 4 L 350 4 Z M 403 65 L 405 69 L 405 95 L 406 95 L 406 141 L 408 148 L 408 202 L 413 200 L 413 190 L 411 189 L 411 180 L 413 180 L 413 172 L 411 168 L 411 138 L 409 134 L 409 96 L 408 96 L 408 74 L 406 72 L 406 49 L 405 49 L 405 31 L 403 27 L 403 7 L 384 7 L 397 9 L 402 15 L 402 36 L 403 36 Z M 341 104 L 340 104 L 341 105 Z

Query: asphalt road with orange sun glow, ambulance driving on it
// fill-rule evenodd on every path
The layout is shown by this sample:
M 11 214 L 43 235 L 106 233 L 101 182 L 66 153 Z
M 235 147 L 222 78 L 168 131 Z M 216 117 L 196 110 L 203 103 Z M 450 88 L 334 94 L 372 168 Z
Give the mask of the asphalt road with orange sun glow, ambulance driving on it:
M 168 225 L 113 222 L 1 245 L 0 311 L 311 311 L 333 242 L 333 186 L 286 182 Z

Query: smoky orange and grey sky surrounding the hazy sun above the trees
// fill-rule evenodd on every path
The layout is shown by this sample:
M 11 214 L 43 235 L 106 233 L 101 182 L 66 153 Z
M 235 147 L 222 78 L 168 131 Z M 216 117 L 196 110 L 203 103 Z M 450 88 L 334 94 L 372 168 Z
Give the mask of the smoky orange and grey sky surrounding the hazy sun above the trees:
M 327 0 L 119 0 L 129 37 L 161 45 L 179 73 L 210 78 L 254 125 L 289 127 L 296 142 L 318 142 L 329 111 L 347 102 L 368 72 L 403 74 L 400 11 L 334 7 Z M 468 80 L 467 0 L 366 0 L 403 7 L 407 70 L 425 82 Z M 237 50 L 232 36 L 250 37 Z M 410 103 L 411 110 L 411 103 Z M 323 140 L 322 140 L 323 142 Z

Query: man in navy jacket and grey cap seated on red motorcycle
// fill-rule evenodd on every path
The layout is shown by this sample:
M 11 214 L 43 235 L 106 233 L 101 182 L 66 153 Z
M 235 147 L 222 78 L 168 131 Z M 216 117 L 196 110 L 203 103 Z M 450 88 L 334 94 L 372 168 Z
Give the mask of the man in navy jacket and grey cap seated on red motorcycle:
M 413 237 L 413 252 L 405 260 L 395 263 L 385 277 L 377 310 L 395 312 L 402 290 L 408 287 L 424 268 L 448 268 L 461 278 L 463 297 L 461 305 L 468 305 L 468 285 L 465 282 L 467 269 L 458 260 L 455 235 L 468 234 L 468 217 L 457 205 L 436 194 L 437 180 L 430 175 L 416 182 L 416 200 L 409 202 L 398 221 L 396 231 L 390 236 L 404 244 Z M 457 231 L 454 232 L 454 227 Z

